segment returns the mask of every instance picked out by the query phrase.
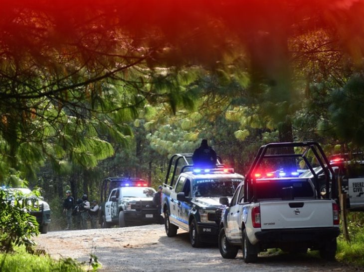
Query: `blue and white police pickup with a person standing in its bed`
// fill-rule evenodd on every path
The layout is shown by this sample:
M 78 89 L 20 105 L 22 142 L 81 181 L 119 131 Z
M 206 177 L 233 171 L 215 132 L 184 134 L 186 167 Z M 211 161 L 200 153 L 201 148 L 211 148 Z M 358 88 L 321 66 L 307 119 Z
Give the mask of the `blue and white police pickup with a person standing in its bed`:
M 223 208 L 219 198 L 231 198 L 244 177 L 222 164 L 217 164 L 216 168 L 194 168 L 188 162 L 191 156 L 176 154 L 170 160 L 162 189 L 162 215 L 167 236 L 176 236 L 178 228 L 181 228 L 189 232 L 192 247 L 200 247 L 203 243 L 216 242 Z M 180 159 L 184 166 L 175 179 Z M 173 176 L 167 184 L 174 160 Z

